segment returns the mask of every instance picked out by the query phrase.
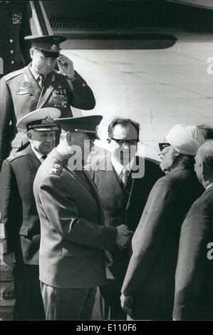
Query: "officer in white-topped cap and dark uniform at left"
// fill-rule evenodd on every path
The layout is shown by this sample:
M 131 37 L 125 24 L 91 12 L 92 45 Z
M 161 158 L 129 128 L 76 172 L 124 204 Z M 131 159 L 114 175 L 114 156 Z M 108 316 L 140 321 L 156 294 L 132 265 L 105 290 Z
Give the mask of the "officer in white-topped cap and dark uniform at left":
M 55 145 L 60 110 L 43 108 L 19 120 L 28 130 L 31 145 L 10 156 L 0 174 L 1 243 L 4 262 L 14 267 L 14 319 L 45 319 L 38 279 L 40 222 L 33 196 L 33 180 L 38 167 Z

